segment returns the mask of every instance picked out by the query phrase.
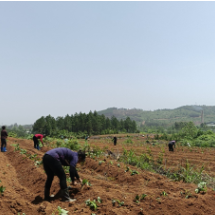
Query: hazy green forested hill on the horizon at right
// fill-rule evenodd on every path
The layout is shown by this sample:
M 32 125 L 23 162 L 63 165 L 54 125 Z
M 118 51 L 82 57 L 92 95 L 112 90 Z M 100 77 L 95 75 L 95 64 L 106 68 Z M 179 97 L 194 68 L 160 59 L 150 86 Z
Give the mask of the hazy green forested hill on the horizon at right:
M 192 121 L 200 125 L 201 114 L 203 111 L 204 123 L 215 123 L 215 106 L 182 106 L 175 109 L 158 109 L 154 111 L 143 111 L 142 109 L 125 109 L 125 108 L 107 108 L 98 111 L 98 114 L 104 114 L 106 117 L 115 116 L 117 119 L 130 117 L 138 125 L 147 126 L 170 126 L 175 122 Z

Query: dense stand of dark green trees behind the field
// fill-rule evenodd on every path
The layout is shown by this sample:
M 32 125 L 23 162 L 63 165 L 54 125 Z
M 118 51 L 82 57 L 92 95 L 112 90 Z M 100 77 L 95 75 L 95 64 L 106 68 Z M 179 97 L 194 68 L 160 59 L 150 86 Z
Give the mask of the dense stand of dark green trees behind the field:
M 137 131 L 136 122 L 127 117 L 125 120 L 118 120 L 115 116 L 111 118 L 105 115 L 99 115 L 96 111 L 86 113 L 75 113 L 65 117 L 51 115 L 42 116 L 33 124 L 33 133 L 45 133 L 52 135 L 56 131 L 68 131 L 79 133 L 83 132 L 89 135 L 113 134 L 113 133 L 134 133 Z

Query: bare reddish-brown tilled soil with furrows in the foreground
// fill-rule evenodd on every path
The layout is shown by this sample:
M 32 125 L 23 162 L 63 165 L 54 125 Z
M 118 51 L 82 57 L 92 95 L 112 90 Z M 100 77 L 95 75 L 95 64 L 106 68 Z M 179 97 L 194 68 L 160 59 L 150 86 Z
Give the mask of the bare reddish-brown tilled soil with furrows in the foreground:
M 87 158 L 85 165 L 77 166 L 80 177 L 88 179 L 92 186 L 83 189 L 80 185 L 73 186 L 70 195 L 77 199 L 76 202 L 60 201 L 57 177 L 51 188 L 51 193 L 55 195 L 54 200 L 44 201 L 46 174 L 42 166 L 36 167 L 33 160 L 20 154 L 20 151 L 14 151 L 15 147 L 11 144 L 17 143 L 28 153 L 38 154 L 40 160 L 48 150 L 47 147 L 41 151 L 34 149 L 31 140 L 8 139 L 8 151 L 0 153 L 0 186 L 6 187 L 3 195 L 0 194 L 2 215 L 18 213 L 51 215 L 54 212 L 58 214 L 56 212 L 58 206 L 66 208 L 69 214 L 215 214 L 215 191 L 212 189 L 208 189 L 205 194 L 195 194 L 197 186 L 194 184 L 173 182 L 164 176 L 132 166 L 130 169 L 137 170 L 139 174 L 131 176 L 130 172 L 125 172 L 124 164 L 120 163 L 118 167 L 118 162 L 114 160 L 111 164 L 109 158 L 97 160 Z M 200 159 L 200 156 L 197 159 Z M 207 157 L 207 160 L 209 159 Z M 104 161 L 101 165 L 99 165 L 100 160 Z M 161 195 L 163 191 L 168 195 Z M 188 193 L 191 197 L 185 198 Z M 137 194 L 147 194 L 147 196 L 137 203 L 135 202 Z M 92 211 L 86 206 L 85 201 L 97 197 L 102 199 L 102 203 L 98 203 L 97 210 Z M 113 206 L 112 199 L 123 201 L 124 205 L 119 206 L 116 203 Z

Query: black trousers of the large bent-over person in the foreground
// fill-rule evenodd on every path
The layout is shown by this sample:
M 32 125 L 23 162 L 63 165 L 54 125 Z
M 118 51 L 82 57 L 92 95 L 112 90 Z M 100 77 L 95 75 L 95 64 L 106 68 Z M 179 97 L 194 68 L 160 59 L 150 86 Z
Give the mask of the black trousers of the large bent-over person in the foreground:
M 61 163 L 54 159 L 51 155 L 45 154 L 43 156 L 43 167 L 47 175 L 47 180 L 45 184 L 46 189 L 50 189 L 54 176 L 56 175 L 60 180 L 60 188 L 66 189 L 66 174 L 63 170 Z

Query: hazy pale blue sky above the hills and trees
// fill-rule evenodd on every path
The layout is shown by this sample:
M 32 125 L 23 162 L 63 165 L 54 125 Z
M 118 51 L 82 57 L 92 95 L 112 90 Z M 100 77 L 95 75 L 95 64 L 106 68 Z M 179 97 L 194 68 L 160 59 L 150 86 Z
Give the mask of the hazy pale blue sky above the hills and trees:
M 0 125 L 215 105 L 215 2 L 0 2 Z

